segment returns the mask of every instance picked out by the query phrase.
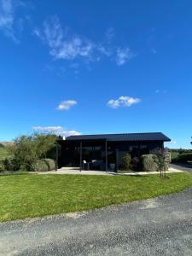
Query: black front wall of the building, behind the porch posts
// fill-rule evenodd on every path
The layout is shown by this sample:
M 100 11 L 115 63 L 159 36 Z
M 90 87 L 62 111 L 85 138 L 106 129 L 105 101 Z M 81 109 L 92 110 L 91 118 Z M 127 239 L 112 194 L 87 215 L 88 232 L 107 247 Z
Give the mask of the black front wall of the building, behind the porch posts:
M 142 154 L 153 154 L 163 148 L 163 142 L 108 142 L 108 163 L 116 160 L 118 154 L 118 164 L 122 163 L 122 157 L 129 153 L 131 158 L 140 157 Z M 92 160 L 103 162 L 106 160 L 105 142 L 82 142 L 82 160 L 91 162 Z M 64 141 L 61 143 L 61 153 L 59 156 L 59 167 L 80 165 L 80 142 Z M 102 164 L 101 164 L 102 166 Z

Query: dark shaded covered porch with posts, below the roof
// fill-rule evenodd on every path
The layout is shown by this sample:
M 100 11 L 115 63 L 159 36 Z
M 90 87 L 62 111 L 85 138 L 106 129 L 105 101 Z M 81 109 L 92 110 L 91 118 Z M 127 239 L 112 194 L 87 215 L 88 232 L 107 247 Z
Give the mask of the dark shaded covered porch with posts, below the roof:
M 149 149 L 154 148 L 154 145 L 141 142 L 112 142 L 108 139 L 60 140 L 57 141 L 56 166 L 79 167 L 80 171 L 117 171 L 126 153 L 131 154 L 131 158 L 139 157 L 149 154 Z

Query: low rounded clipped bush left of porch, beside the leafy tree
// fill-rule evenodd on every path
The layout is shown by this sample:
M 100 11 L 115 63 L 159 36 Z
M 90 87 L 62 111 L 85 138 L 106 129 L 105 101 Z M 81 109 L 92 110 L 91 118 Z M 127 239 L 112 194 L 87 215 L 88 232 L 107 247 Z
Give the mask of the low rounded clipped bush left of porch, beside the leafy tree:
M 32 165 L 32 171 L 35 172 L 48 172 L 51 170 L 55 170 L 55 160 L 52 159 L 37 160 L 36 163 Z

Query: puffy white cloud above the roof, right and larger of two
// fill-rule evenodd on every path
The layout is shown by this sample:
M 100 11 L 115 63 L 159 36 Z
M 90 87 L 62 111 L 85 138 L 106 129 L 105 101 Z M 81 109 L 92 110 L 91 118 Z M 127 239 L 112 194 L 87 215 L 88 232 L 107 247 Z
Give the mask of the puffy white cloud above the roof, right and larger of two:
M 119 107 L 131 107 L 131 105 L 141 102 L 139 98 L 133 98 L 130 96 L 120 96 L 118 99 L 108 101 L 108 107 L 119 108 Z

